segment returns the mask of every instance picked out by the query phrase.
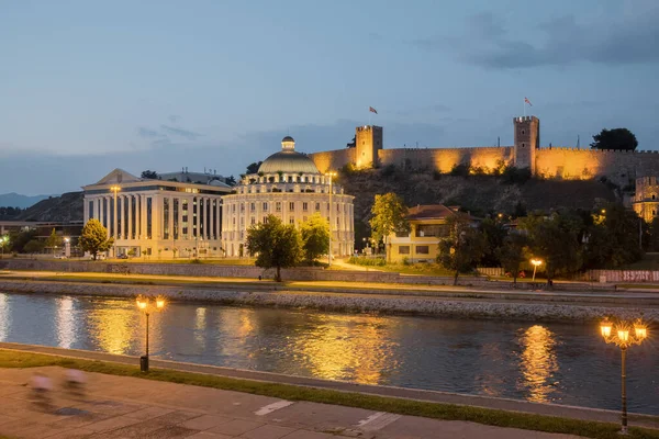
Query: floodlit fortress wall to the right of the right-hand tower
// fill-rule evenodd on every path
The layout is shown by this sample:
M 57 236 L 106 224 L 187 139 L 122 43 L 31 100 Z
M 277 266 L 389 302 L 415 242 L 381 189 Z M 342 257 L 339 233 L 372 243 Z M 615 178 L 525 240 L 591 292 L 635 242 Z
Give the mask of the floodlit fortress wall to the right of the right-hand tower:
M 536 153 L 536 175 L 540 178 L 587 180 L 606 177 L 621 187 L 637 177 L 659 173 L 657 151 L 540 148 Z

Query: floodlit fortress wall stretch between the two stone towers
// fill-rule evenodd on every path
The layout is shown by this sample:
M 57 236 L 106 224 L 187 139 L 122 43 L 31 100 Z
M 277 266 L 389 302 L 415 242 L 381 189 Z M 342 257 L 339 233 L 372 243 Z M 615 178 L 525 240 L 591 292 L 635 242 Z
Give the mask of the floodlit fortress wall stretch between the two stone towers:
M 471 164 L 492 170 L 498 162 L 512 162 L 513 147 L 468 147 L 468 148 L 396 148 L 380 149 L 378 157 L 382 166 L 395 165 L 400 167 L 431 168 L 440 172 L 450 172 L 456 165 Z

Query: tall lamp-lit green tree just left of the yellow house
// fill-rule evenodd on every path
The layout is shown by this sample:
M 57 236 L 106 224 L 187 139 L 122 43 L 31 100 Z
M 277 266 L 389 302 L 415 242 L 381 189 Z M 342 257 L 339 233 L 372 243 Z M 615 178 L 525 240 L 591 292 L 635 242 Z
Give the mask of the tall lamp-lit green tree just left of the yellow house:
M 388 258 L 390 255 L 389 236 L 393 233 L 410 232 L 410 222 L 407 221 L 407 206 L 399 195 L 393 192 L 384 195 L 376 195 L 376 201 L 371 207 L 370 219 L 371 236 L 379 243 L 384 240 Z

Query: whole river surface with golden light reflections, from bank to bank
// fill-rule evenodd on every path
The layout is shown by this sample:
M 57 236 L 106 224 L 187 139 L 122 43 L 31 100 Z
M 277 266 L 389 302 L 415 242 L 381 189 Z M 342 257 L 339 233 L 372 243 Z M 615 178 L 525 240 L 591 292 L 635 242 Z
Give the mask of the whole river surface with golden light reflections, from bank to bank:
M 585 325 L 189 303 L 149 323 L 150 353 L 163 359 L 618 408 L 619 351 Z M 0 293 L 0 341 L 136 356 L 145 329 L 131 300 Z M 659 414 L 655 345 L 630 350 L 632 410 Z

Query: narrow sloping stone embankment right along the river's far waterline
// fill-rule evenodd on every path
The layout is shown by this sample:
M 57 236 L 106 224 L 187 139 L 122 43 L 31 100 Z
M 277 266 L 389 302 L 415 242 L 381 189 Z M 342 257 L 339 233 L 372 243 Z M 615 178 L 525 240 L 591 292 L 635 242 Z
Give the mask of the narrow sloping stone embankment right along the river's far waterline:
M 81 282 L 0 280 L 0 292 L 51 293 L 133 297 L 163 295 L 172 301 L 213 302 L 225 305 L 311 308 L 351 313 L 400 313 L 445 317 L 521 320 L 595 320 L 605 315 L 644 316 L 659 320 L 659 308 L 588 303 L 492 301 L 470 297 L 337 294 L 322 292 L 249 292 L 168 285 L 132 285 Z M 594 297 L 593 297 L 594 299 Z

